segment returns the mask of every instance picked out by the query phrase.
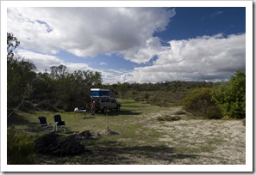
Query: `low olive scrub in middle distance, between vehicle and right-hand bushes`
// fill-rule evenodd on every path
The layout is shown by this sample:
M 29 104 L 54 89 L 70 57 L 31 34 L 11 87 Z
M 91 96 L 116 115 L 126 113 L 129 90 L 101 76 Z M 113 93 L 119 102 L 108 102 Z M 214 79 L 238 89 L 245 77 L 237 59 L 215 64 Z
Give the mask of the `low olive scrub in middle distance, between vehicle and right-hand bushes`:
M 166 81 L 159 83 L 128 84 L 126 98 L 135 101 L 147 101 L 156 106 L 181 106 L 186 92 L 197 87 L 212 87 L 206 81 Z M 111 88 L 114 85 L 110 85 Z M 118 85 L 117 85 L 118 86 Z

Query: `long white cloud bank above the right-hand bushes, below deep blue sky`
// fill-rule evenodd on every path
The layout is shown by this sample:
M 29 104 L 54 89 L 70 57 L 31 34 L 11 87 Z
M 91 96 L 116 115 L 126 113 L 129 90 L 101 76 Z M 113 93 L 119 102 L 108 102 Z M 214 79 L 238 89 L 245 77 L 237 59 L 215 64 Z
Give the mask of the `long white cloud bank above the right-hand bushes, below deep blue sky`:
M 222 81 L 246 70 L 246 34 L 171 40 L 152 66 L 134 68 L 123 81 Z

